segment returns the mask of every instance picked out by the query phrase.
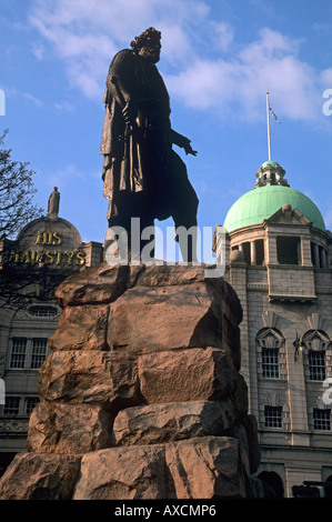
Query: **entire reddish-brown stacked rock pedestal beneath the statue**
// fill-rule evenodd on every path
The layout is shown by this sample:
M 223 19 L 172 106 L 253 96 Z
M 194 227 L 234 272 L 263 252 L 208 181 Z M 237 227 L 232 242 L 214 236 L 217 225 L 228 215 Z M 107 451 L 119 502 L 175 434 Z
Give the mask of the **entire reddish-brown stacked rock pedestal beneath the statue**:
M 0 499 L 254 495 L 242 310 L 223 279 L 201 265 L 102 263 L 67 279 L 57 299 L 28 452 Z

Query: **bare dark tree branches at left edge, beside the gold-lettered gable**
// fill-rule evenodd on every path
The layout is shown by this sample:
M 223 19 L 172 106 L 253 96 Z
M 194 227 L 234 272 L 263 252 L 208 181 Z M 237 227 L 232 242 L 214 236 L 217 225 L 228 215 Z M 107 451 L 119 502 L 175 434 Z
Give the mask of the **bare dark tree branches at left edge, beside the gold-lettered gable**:
M 52 300 L 56 288 L 72 270 L 68 267 L 52 270 L 44 263 L 9 262 L 14 237 L 30 221 L 40 218 L 43 209 L 33 201 L 36 172 L 29 169 L 29 163 L 11 159 L 11 150 L 4 148 L 7 133 L 4 130 L 0 137 L 0 308 L 18 309 Z

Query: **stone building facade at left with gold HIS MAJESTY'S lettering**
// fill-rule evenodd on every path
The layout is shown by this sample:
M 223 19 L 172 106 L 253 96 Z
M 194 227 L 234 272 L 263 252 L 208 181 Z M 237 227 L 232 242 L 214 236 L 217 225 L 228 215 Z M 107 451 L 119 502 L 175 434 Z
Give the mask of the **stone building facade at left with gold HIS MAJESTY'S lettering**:
M 0 278 L 10 269 L 21 281 L 19 290 L 13 282 L 13 292 L 32 298 L 0 302 L 0 474 L 17 452 L 26 451 L 29 415 L 39 395 L 38 370 L 61 313 L 56 287 L 102 261 L 102 244 L 83 243 L 76 227 L 58 215 L 59 199 L 54 190 L 46 217 L 28 223 L 17 240 L 1 240 Z

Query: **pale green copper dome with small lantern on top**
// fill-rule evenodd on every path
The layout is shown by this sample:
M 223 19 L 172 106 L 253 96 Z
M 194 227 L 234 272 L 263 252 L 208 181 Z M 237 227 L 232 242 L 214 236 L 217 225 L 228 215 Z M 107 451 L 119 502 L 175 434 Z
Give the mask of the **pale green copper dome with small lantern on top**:
M 313 227 L 325 230 L 322 214 L 313 201 L 302 192 L 291 189 L 283 179 L 283 174 L 279 181 L 275 182 L 273 178 L 271 182 L 269 178 L 271 168 L 272 171 L 274 171 L 275 168 L 281 169 L 278 163 L 272 161 L 262 164 L 256 172 L 256 177 L 259 178 L 256 188 L 243 194 L 230 208 L 223 223 L 225 230 L 232 232 L 242 227 L 262 223 L 263 220 L 273 215 L 286 203 L 290 204 L 292 209 L 298 209 L 305 218 L 312 221 Z

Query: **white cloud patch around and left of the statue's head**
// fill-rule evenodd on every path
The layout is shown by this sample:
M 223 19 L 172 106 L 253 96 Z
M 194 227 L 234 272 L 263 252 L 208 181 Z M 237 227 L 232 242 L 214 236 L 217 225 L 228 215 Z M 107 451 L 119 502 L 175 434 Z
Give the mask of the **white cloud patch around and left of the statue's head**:
M 29 21 L 64 61 L 71 84 L 87 97 L 100 98 L 111 58 L 147 27 L 162 30 L 165 60 L 172 63 L 188 57 L 190 40 L 182 26 L 189 13 L 184 3 L 145 0 L 142 7 L 132 0 L 99 0 L 97 9 L 91 0 L 36 0 Z M 199 22 L 209 9 L 197 0 L 190 3 L 190 13 Z M 44 56 L 40 44 L 33 52 L 38 59 Z

